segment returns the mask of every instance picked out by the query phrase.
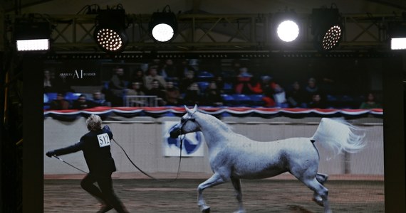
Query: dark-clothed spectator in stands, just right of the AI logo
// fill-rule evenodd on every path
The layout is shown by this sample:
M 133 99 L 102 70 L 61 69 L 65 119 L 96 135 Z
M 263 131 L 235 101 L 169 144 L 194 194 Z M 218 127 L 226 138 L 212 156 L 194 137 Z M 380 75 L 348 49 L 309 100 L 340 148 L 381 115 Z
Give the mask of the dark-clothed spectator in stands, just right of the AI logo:
M 122 67 L 113 69 L 113 76 L 108 84 L 107 100 L 113 107 L 123 106 L 123 97 L 125 94 L 126 82 L 124 78 L 124 70 Z

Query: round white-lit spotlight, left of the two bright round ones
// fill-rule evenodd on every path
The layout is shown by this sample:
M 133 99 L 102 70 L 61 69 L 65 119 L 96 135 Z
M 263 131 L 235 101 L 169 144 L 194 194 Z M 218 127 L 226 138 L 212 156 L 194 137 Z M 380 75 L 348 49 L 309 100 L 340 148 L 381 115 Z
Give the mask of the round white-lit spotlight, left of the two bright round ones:
M 170 11 L 169 6 L 165 6 L 162 12 L 152 13 L 149 31 L 152 38 L 158 42 L 167 42 L 175 37 L 177 33 L 177 18 L 175 13 Z

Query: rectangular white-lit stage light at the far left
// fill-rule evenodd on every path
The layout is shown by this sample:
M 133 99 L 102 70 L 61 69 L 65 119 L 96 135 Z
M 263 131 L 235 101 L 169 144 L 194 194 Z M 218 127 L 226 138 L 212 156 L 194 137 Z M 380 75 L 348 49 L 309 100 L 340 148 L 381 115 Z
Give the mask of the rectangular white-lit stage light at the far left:
M 51 24 L 31 20 L 16 20 L 14 37 L 17 51 L 49 50 Z

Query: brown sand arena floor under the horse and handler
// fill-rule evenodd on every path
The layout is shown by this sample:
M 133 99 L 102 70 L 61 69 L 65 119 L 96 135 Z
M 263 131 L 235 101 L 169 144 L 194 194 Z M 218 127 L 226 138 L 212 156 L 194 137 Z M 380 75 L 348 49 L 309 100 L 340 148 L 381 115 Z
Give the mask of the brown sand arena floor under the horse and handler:
M 205 179 L 160 180 L 113 175 L 115 192 L 129 212 L 199 212 L 197 185 Z M 203 175 L 204 176 L 204 175 Z M 207 176 L 207 175 L 206 175 Z M 80 188 L 83 175 L 53 176 L 43 180 L 43 212 L 97 212 L 100 204 Z M 205 177 L 204 177 L 205 178 Z M 385 212 L 384 182 L 375 176 L 334 176 L 326 182 L 333 212 Z M 323 212 L 311 201 L 313 192 L 291 175 L 265 180 L 242 180 L 246 212 Z M 237 209 L 230 182 L 204 191 L 211 212 L 234 212 Z M 115 212 L 111 210 L 110 212 Z

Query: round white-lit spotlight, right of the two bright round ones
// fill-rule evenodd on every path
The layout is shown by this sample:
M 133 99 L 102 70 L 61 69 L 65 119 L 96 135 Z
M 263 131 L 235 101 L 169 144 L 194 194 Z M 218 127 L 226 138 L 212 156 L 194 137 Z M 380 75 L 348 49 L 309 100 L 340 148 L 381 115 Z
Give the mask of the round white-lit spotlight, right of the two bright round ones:
M 298 38 L 300 30 L 296 13 L 293 11 L 276 13 L 273 19 L 274 30 L 279 39 L 290 43 Z

